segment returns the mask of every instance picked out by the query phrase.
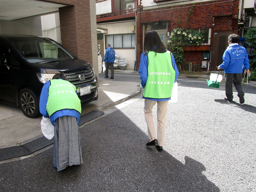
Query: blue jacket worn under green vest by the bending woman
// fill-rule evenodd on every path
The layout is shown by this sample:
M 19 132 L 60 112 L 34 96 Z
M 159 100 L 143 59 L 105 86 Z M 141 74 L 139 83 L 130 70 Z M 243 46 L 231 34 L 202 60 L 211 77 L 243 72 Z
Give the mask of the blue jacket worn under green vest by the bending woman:
M 50 87 L 50 81 L 47 81 L 44 86 L 43 89 L 41 91 L 41 95 L 40 95 L 40 100 L 39 100 L 39 110 L 40 113 L 49 118 L 49 115 L 46 111 L 46 104 L 48 101 L 48 90 Z M 56 111 L 54 114 L 52 114 L 52 116 L 50 117 L 51 123 L 52 125 L 54 125 L 54 121 L 62 116 L 73 116 L 77 118 L 77 121 L 80 123 L 80 113 L 76 110 L 70 110 L 70 109 L 64 109 L 64 110 L 60 110 L 60 111 Z

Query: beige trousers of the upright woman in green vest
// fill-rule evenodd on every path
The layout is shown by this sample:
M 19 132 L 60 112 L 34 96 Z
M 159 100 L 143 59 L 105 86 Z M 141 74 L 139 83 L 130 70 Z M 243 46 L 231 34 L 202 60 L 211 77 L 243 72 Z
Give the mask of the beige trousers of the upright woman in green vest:
M 156 132 L 153 122 L 152 109 L 157 102 L 157 141 L 159 146 L 164 145 L 165 133 L 165 114 L 167 109 L 167 101 L 153 101 L 145 99 L 144 115 L 148 125 L 148 137 L 155 138 Z

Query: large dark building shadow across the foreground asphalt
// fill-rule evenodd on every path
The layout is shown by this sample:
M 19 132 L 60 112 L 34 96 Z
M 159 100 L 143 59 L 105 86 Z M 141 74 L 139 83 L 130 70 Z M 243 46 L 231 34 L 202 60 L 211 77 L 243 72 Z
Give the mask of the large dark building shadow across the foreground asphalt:
M 0 164 L 0 191 L 220 191 L 200 162 L 185 156 L 183 164 L 165 150 L 146 147 L 147 135 L 120 110 L 80 133 L 84 164 L 57 172 L 52 148 Z

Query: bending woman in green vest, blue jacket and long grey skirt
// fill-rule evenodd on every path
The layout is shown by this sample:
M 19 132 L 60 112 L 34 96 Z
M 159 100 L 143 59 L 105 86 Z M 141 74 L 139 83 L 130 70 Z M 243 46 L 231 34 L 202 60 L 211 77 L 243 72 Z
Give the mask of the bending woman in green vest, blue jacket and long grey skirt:
M 61 171 L 67 166 L 82 164 L 78 127 L 81 101 L 76 86 L 69 83 L 65 75 L 54 75 L 43 86 L 39 110 L 54 125 L 53 166 Z

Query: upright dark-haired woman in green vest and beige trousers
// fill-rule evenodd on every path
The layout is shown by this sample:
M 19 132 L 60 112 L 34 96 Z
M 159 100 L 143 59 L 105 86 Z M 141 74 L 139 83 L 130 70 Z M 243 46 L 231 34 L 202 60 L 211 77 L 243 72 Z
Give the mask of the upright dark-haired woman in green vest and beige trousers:
M 156 31 L 149 31 L 144 39 L 144 52 L 140 57 L 139 74 L 141 87 L 145 88 L 144 114 L 148 125 L 147 146 L 156 146 L 163 150 L 165 133 L 165 114 L 168 101 L 172 96 L 172 87 L 179 71 L 171 52 L 166 51 Z M 153 122 L 152 108 L 157 102 L 157 139 Z

